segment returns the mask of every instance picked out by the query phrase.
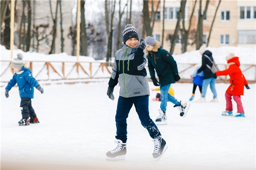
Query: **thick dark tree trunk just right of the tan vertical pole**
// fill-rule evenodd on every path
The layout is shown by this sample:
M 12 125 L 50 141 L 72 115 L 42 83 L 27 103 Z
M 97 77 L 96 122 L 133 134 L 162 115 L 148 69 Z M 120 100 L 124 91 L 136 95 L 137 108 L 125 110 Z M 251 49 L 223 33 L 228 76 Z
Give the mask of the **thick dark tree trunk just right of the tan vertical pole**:
M 87 42 L 87 33 L 86 33 L 86 23 L 85 23 L 85 0 L 81 1 L 81 55 L 87 56 L 88 52 L 88 42 Z

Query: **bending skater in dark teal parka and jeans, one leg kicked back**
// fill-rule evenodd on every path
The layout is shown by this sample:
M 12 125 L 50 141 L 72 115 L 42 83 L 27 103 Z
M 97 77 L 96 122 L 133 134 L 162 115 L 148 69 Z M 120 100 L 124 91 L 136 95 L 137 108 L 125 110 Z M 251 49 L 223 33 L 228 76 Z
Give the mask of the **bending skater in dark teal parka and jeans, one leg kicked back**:
M 155 40 L 151 36 L 147 36 L 146 39 L 146 55 L 148 59 L 148 69 L 155 86 L 160 85 L 161 92 L 161 105 L 159 110 L 159 116 L 155 119 L 157 125 L 166 125 L 166 107 L 167 101 L 174 103 L 174 107 L 178 107 L 180 110 L 180 116 L 185 117 L 190 104 L 178 102 L 174 96 L 168 93 L 170 85 L 180 80 L 177 63 L 173 56 L 163 49 L 160 42 Z M 155 78 L 155 71 L 159 78 L 159 82 Z

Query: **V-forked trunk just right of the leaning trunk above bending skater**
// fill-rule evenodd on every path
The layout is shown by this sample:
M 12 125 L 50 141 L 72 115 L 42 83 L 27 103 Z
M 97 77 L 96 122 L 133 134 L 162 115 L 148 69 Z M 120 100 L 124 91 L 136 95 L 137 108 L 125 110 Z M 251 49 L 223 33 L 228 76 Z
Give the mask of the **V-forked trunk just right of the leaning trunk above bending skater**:
M 197 0 L 195 0 L 193 9 L 192 9 L 192 13 L 189 19 L 189 28 L 186 30 L 185 28 L 185 11 L 182 11 L 182 17 L 183 17 L 183 21 L 182 21 L 182 53 L 187 51 L 187 46 L 188 46 L 188 35 L 189 35 L 189 31 L 190 31 L 190 27 L 191 27 L 191 23 L 192 23 L 192 17 L 193 17 L 193 13 L 195 10 L 195 6 L 196 6 L 196 2 Z

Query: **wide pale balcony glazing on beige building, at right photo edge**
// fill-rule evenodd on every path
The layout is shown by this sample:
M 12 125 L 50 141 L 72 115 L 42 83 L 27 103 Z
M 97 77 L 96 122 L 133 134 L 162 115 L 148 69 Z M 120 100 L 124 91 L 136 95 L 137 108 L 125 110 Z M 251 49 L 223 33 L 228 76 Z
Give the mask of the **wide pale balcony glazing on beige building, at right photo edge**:
M 238 31 L 238 44 L 256 44 L 255 30 Z

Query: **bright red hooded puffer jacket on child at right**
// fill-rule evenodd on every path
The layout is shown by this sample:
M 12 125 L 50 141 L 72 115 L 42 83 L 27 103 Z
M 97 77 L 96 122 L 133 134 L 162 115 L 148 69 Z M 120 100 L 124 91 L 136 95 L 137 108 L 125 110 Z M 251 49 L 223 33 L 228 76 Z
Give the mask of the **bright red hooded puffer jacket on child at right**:
M 216 76 L 230 76 L 230 84 L 227 89 L 227 93 L 231 95 L 244 95 L 244 86 L 248 85 L 245 76 L 242 74 L 239 68 L 240 62 L 238 57 L 233 57 L 228 60 L 228 64 L 231 64 L 228 69 L 223 71 L 217 71 Z

